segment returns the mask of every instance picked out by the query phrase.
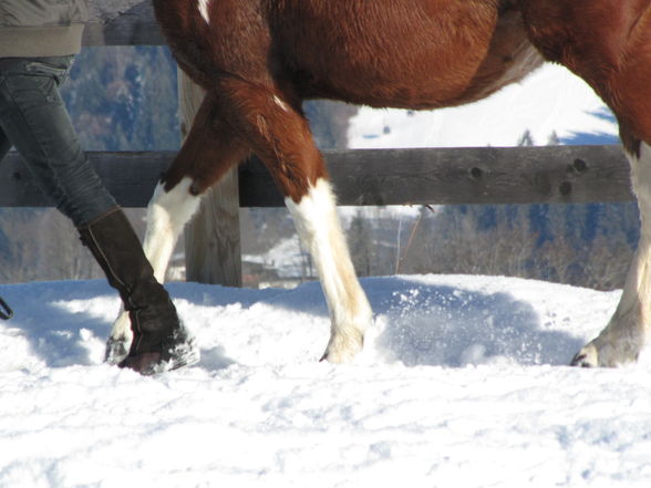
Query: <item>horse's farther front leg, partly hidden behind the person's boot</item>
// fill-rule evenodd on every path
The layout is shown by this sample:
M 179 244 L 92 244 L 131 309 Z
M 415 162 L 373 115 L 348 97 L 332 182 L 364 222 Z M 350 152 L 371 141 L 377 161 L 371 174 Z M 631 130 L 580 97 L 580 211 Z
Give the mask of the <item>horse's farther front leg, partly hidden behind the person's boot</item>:
M 147 231 L 143 248 L 158 282 L 165 272 L 178 236 L 196 212 L 200 196 L 238 164 L 248 150 L 220 117 L 215 98 L 207 95 L 192 129 L 147 207 Z M 106 362 L 117 364 L 132 340 L 128 314 L 121 312 L 106 343 Z

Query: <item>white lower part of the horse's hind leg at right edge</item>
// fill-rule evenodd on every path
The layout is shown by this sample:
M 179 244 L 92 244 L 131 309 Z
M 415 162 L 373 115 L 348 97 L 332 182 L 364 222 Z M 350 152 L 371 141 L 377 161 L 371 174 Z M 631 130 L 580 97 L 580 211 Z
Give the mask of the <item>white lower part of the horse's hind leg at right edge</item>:
M 640 241 L 612 319 L 579 353 L 591 365 L 617 366 L 636 361 L 651 328 L 651 147 L 642 144 L 639 158 L 627 156 L 640 209 Z

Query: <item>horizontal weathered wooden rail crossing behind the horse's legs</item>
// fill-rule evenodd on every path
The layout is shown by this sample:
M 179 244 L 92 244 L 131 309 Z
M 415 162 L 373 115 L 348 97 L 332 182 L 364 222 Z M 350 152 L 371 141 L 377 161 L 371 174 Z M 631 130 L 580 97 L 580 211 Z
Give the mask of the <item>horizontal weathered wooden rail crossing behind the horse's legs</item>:
M 89 158 L 124 207 L 145 207 L 174 152 Z M 632 200 L 619 146 L 474 147 L 326 152 L 340 205 L 559 204 Z M 279 207 L 265 167 L 239 169 L 240 207 Z M 0 165 L 0 206 L 51 206 L 10 154 Z

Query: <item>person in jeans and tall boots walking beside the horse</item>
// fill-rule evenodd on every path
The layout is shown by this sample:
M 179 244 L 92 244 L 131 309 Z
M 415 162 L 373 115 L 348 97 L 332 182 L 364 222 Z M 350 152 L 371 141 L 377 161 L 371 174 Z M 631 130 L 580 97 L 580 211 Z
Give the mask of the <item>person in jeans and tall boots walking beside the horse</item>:
M 16 147 L 120 293 L 133 341 L 118 365 L 142 374 L 189 365 L 198 361 L 194 340 L 89 164 L 59 93 L 86 15 L 86 0 L 0 0 L 0 160 Z

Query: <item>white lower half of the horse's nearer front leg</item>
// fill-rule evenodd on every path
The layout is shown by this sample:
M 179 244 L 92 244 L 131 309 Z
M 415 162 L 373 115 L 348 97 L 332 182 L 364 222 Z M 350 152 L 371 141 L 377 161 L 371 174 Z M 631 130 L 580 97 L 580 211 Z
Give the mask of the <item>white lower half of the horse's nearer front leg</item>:
M 324 357 L 350 362 L 362 347 L 372 311 L 350 259 L 330 184 L 319 179 L 299 204 L 291 198 L 285 203 L 314 260 L 330 310 L 331 336 Z

